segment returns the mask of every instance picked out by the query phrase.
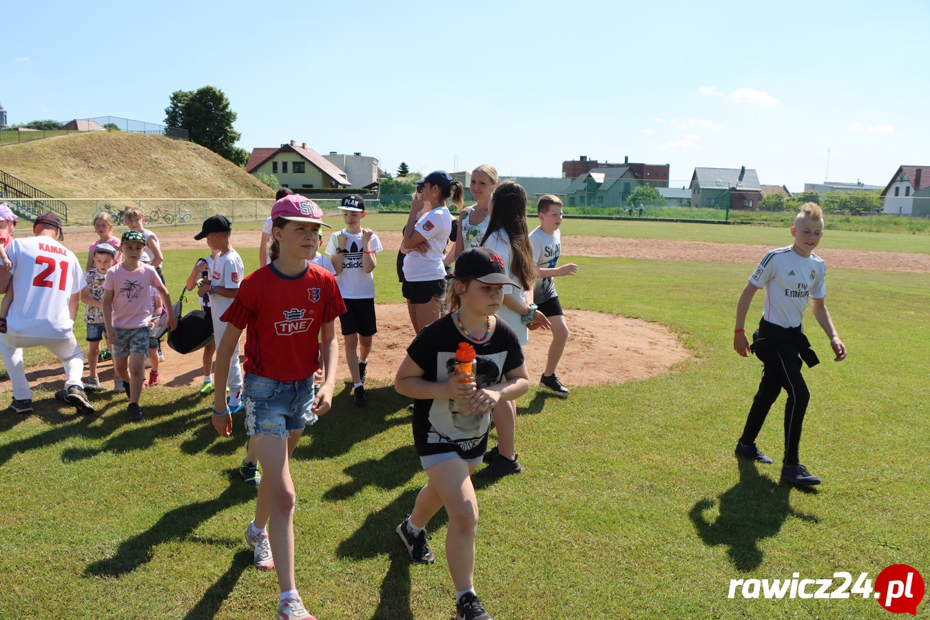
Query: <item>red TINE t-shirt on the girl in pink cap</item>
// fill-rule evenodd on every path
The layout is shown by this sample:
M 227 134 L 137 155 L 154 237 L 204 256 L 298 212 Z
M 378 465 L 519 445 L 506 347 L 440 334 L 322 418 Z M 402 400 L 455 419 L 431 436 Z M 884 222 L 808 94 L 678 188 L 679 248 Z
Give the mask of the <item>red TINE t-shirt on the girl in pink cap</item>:
M 246 329 L 246 373 L 299 381 L 319 368 L 320 328 L 345 313 L 336 278 L 309 265 L 287 277 L 272 264 L 250 273 L 220 321 Z

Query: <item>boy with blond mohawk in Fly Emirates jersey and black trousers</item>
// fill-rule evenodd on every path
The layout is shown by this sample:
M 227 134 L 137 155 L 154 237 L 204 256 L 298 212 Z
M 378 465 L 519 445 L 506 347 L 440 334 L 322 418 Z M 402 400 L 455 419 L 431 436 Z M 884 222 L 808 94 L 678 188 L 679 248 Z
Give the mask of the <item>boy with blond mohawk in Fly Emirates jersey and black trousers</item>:
M 807 336 L 804 336 L 801 324 L 808 297 L 811 300 L 811 314 L 830 338 L 830 347 L 836 355 L 834 362 L 845 359 L 846 348 L 836 334 L 830 312 L 824 303 L 827 297 L 824 283 L 827 267 L 814 254 L 823 236 L 823 212 L 817 204 L 804 204 L 801 213 L 794 219 L 791 235 L 794 237 L 793 244 L 771 250 L 763 257 L 737 303 L 733 348 L 743 357 L 748 357 L 752 351 L 762 360 L 764 367 L 759 390 L 752 401 L 743 434 L 737 442 L 736 455 L 760 463 L 772 463 L 772 459 L 756 447 L 755 440 L 769 409 L 781 389 L 785 389 L 788 401 L 785 402 L 785 456 L 781 480 L 810 486 L 819 484 L 820 479 L 807 471 L 798 456 L 801 427 L 810 400 L 810 391 L 804 383 L 801 368 L 803 363 L 813 366 L 819 362 Z M 754 344 L 750 346 L 744 325 L 752 297 L 760 288 L 765 289 L 765 307 L 759 330 L 753 335 Z

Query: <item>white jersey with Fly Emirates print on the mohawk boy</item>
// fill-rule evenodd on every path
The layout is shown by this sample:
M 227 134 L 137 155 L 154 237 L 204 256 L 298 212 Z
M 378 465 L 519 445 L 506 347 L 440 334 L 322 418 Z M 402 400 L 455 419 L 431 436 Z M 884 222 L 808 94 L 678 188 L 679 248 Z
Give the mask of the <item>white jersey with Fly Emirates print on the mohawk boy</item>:
M 750 277 L 750 284 L 765 288 L 763 318 L 782 327 L 797 327 L 807 297 L 827 297 L 827 265 L 816 254 L 803 257 L 790 245 L 766 254 Z

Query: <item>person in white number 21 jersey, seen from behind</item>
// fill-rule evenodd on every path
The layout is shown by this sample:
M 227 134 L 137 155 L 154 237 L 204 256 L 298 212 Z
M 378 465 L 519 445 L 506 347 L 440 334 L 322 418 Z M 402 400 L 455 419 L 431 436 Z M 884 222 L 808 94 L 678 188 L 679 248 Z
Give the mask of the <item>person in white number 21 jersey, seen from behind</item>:
M 84 354 L 74 339 L 73 324 L 81 293 L 81 263 L 74 253 L 61 245 L 61 220 L 46 212 L 33 223 L 34 237 L 10 244 L 9 270 L 0 270 L 0 294 L 12 282 L 16 297 L 7 316 L 8 329 L 0 335 L 0 354 L 7 366 L 13 387 L 10 405 L 18 414 L 33 411 L 33 391 L 29 388 L 22 363 L 22 350 L 45 347 L 64 366 L 64 402 L 73 404 L 78 413 L 92 414 L 81 373 Z

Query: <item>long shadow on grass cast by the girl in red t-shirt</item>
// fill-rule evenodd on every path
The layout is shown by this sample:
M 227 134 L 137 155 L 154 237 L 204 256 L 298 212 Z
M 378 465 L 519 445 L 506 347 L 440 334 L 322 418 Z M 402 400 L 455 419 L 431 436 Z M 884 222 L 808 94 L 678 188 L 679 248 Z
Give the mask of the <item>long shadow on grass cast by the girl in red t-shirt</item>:
M 86 576 L 90 577 L 122 577 L 124 574 L 132 573 L 142 564 L 152 560 L 153 550 L 159 545 L 163 545 L 169 540 L 186 540 L 191 538 L 191 534 L 204 522 L 214 518 L 226 508 L 231 508 L 238 504 L 246 504 L 255 500 L 255 489 L 246 486 L 239 480 L 239 472 L 235 469 L 227 471 L 230 479 L 230 485 L 223 490 L 221 494 L 213 499 L 203 502 L 194 502 L 168 510 L 161 519 L 156 521 L 152 527 L 141 534 L 136 534 L 126 539 L 116 548 L 116 553 L 112 558 L 95 561 L 87 565 L 84 571 Z M 202 540 L 202 539 L 201 539 Z M 223 541 L 217 541 L 221 543 Z M 225 543 L 223 543 L 225 544 Z M 201 605 L 213 604 L 207 601 L 207 594 L 213 593 L 210 600 L 219 598 L 219 602 L 225 599 L 226 595 L 232 591 L 235 585 L 231 581 L 231 574 L 234 573 L 235 562 L 241 560 L 243 569 L 251 564 L 251 553 L 237 553 L 233 559 L 233 567 L 212 587 L 209 587 L 204 598 L 198 603 Z M 241 574 L 242 571 L 240 570 Z M 223 594 L 225 592 L 225 594 Z M 217 603 L 219 605 L 219 602 Z

